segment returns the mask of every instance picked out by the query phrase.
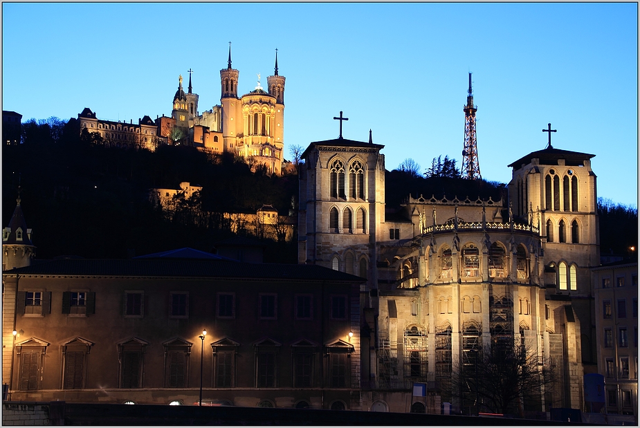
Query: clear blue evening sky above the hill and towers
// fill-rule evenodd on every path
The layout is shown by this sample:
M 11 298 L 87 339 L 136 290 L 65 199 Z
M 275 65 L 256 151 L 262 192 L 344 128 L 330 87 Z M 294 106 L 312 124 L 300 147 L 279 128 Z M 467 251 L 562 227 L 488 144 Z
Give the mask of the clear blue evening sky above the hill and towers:
M 229 41 L 243 94 L 278 49 L 286 158 L 338 137 L 342 110 L 345 138 L 372 129 L 387 169 L 461 165 L 472 72 L 483 178 L 508 183 L 551 122 L 554 147 L 596 155 L 598 196 L 637 206 L 637 3 L 3 3 L 2 108 L 155 119 L 192 68 L 202 112 Z

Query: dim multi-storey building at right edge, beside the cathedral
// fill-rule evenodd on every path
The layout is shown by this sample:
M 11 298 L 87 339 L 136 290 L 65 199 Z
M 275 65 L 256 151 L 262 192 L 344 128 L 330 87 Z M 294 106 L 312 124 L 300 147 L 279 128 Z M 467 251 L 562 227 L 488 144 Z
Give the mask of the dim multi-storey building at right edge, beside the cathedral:
M 605 378 L 606 413 L 638 422 L 638 262 L 592 268 L 598 373 Z

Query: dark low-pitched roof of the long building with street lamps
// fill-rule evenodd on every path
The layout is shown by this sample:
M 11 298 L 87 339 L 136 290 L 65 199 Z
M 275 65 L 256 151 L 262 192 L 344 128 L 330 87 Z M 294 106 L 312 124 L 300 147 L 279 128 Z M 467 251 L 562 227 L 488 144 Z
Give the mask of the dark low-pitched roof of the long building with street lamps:
M 6 270 L 4 275 L 65 275 L 80 277 L 210 277 L 232 279 L 284 279 L 355 281 L 365 279 L 316 265 L 241 263 L 186 259 L 62 259 Z

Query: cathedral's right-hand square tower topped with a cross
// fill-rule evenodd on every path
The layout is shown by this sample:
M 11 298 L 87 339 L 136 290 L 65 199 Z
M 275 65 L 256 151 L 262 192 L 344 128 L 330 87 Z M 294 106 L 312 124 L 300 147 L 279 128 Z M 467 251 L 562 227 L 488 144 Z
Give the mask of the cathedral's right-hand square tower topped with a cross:
M 580 319 L 581 357 L 595 362 L 590 268 L 600 265 L 595 155 L 547 148 L 511 163 L 513 214 L 540 227 L 542 278 L 547 298 L 567 300 Z

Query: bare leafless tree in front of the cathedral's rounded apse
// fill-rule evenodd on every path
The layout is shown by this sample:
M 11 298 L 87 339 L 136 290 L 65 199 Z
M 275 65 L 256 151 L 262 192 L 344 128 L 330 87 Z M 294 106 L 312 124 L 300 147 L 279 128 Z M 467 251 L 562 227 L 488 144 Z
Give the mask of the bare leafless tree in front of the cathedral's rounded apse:
M 463 402 L 475 403 L 478 411 L 517 409 L 524 416 L 525 404 L 533 403 L 539 409 L 542 391 L 556 380 L 554 367 L 539 365 L 536 349 L 526 346 L 520 335 L 494 342 L 488 349 L 464 352 L 470 356 L 453 371 L 453 392 Z

